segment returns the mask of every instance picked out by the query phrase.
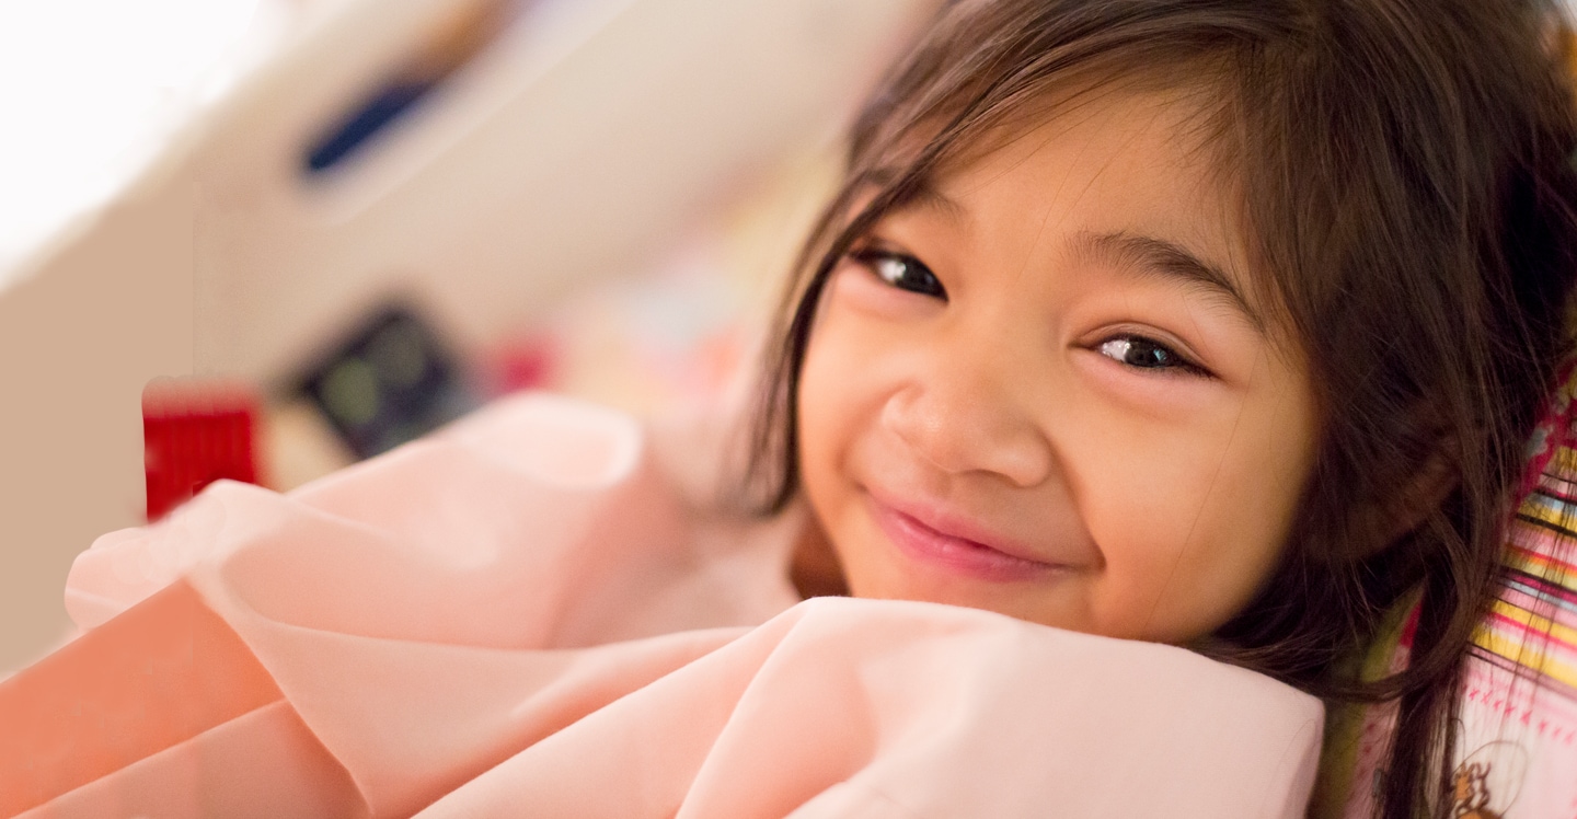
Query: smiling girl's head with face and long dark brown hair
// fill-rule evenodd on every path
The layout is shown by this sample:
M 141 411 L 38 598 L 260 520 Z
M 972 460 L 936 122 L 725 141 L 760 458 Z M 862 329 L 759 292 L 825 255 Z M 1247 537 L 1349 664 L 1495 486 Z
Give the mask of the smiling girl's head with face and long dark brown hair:
M 861 596 L 1399 697 L 1459 674 L 1577 254 L 1536 2 L 968 2 L 866 107 L 757 436 Z M 784 453 L 796 453 L 785 458 Z M 1337 666 L 1421 593 L 1411 663 Z

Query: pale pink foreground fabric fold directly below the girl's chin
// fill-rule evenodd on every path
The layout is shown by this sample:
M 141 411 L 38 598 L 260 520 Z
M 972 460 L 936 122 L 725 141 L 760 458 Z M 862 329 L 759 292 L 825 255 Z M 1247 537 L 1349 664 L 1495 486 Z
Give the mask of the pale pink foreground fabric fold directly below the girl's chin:
M 1181 649 L 820 598 L 423 819 L 1303 816 L 1318 704 Z

